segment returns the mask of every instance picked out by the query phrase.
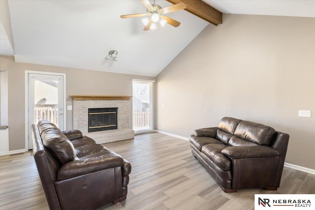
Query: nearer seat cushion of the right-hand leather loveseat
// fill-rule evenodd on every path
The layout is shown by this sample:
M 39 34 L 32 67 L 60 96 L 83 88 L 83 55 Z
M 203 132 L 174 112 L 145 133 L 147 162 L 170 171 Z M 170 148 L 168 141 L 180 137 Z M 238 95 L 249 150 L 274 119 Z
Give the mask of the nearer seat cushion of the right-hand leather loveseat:
M 230 170 L 231 161 L 224 154 L 221 154 L 221 151 L 228 147 L 224 144 L 208 144 L 202 147 L 201 152 L 221 170 Z

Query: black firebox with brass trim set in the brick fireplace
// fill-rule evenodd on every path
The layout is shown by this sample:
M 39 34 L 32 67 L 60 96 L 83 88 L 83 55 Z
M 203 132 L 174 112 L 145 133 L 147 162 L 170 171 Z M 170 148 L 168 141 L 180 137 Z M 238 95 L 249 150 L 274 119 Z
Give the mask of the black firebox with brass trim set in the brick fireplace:
M 88 109 L 88 132 L 117 129 L 118 108 Z

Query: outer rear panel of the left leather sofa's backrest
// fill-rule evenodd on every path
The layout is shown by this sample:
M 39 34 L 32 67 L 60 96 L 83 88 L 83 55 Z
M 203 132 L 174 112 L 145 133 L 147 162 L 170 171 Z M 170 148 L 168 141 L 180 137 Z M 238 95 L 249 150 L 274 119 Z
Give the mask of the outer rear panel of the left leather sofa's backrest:
M 38 174 L 42 182 L 44 191 L 51 198 L 50 200 L 47 200 L 49 207 L 50 209 L 54 210 L 61 209 L 54 183 L 57 180 L 59 164 L 50 154 L 50 152 L 47 151 L 44 147 L 37 125 L 32 124 L 31 130 L 33 155 Z

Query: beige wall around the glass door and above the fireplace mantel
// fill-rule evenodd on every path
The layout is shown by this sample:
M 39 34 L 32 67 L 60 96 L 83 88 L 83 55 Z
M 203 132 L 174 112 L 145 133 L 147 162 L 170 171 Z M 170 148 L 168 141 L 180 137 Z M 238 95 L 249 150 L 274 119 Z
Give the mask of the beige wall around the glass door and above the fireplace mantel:
M 66 105 L 70 94 L 132 95 L 132 79 L 154 77 L 80 70 L 55 66 L 16 63 L 13 57 L 1 56 L 0 69 L 8 70 L 8 126 L 10 150 L 25 149 L 25 70 L 66 74 Z M 130 118 L 131 119 L 131 113 Z M 66 111 L 66 129 L 72 129 L 72 110 Z

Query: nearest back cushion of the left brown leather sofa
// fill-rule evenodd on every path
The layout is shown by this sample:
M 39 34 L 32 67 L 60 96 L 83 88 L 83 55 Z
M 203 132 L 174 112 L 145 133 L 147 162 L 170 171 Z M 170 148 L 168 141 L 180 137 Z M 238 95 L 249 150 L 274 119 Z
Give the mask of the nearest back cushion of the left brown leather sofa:
M 58 128 L 44 130 L 41 139 L 43 145 L 60 165 L 77 158 L 71 141 Z

